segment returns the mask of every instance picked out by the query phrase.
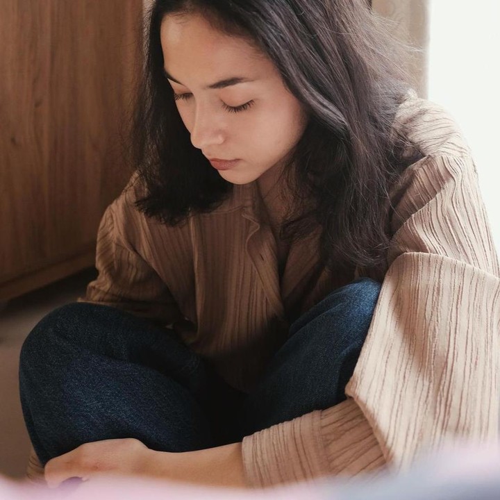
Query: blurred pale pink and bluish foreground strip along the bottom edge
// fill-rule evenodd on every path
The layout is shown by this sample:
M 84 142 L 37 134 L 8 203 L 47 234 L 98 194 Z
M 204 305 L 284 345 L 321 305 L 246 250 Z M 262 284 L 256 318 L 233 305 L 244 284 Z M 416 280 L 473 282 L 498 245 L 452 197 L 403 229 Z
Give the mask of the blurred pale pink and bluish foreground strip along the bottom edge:
M 202 487 L 124 476 L 75 478 L 56 489 L 0 477 L 0 500 L 498 500 L 500 446 L 449 444 L 406 472 L 322 478 L 266 490 Z

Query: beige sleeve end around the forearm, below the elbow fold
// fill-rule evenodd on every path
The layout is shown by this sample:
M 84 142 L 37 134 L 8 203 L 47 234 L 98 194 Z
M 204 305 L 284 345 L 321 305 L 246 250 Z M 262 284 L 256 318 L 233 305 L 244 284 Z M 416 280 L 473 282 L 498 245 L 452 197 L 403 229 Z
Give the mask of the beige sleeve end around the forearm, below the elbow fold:
M 244 437 L 242 452 L 247 484 L 256 488 L 355 476 L 386 463 L 353 399 Z

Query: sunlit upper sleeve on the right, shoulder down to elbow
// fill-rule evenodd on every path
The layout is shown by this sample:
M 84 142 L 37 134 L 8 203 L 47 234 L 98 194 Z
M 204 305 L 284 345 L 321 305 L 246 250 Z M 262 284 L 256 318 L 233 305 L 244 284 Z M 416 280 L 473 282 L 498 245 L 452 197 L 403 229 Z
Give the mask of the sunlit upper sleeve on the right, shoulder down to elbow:
M 496 438 L 499 417 L 500 271 L 476 167 L 469 155 L 422 167 L 406 198 L 425 199 L 423 185 L 436 192 L 417 211 L 401 207 L 376 338 L 347 387 L 396 467 L 447 439 Z

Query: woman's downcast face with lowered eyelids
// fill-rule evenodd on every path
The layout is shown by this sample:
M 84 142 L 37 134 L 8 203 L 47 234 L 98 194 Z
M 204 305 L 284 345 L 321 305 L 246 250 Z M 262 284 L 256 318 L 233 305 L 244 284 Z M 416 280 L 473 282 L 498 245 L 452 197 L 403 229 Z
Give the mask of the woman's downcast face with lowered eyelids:
M 194 147 L 208 159 L 238 159 L 219 169 L 234 184 L 278 172 L 307 118 L 273 63 L 242 38 L 216 31 L 200 15 L 167 15 L 161 44 L 165 72 L 182 97 L 176 106 Z M 214 85 L 233 78 L 242 81 Z

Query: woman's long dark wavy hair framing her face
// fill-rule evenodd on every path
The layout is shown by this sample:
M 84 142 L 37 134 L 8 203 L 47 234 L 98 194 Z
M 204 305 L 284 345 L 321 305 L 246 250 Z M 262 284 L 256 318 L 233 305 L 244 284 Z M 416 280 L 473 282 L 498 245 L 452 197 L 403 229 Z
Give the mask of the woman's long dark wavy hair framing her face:
M 133 119 L 133 163 L 145 187 L 138 210 L 180 224 L 219 206 L 233 188 L 192 146 L 163 70 L 163 18 L 192 12 L 267 54 L 308 112 L 285 168 L 295 206 L 282 238 L 304 238 L 319 224 L 326 265 L 383 263 L 388 192 L 421 154 L 403 129 L 392 131 L 410 85 L 397 42 L 366 0 L 156 0 Z

